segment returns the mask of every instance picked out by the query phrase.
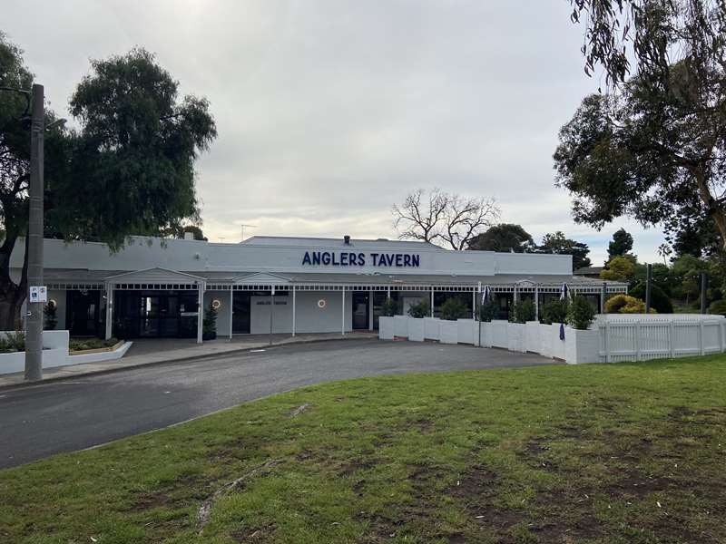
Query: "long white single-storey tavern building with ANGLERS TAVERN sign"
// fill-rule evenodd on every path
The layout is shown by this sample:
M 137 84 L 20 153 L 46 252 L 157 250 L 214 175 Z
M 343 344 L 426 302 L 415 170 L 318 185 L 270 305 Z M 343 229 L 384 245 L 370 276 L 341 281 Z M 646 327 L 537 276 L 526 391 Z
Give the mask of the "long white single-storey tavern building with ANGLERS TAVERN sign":
M 20 276 L 25 244 L 11 260 Z M 574 277 L 572 257 L 452 251 L 387 239 L 252 237 L 239 244 L 130 238 L 116 253 L 101 243 L 44 241 L 44 283 L 59 329 L 72 336 L 196 337 L 199 308 L 213 306 L 219 336 L 376 330 L 387 297 L 400 311 L 426 298 L 432 315 L 449 296 L 472 313 L 489 286 L 506 318 L 515 300 L 538 309 L 563 283 L 601 306 L 626 286 Z

